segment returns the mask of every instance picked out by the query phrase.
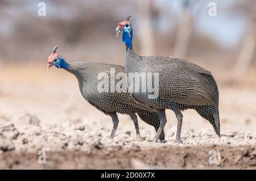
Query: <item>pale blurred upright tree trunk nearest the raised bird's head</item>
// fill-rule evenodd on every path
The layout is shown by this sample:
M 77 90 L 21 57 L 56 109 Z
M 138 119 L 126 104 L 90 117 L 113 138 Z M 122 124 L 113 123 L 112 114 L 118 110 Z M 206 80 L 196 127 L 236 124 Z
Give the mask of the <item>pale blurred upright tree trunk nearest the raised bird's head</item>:
M 138 40 L 142 55 L 154 54 L 154 33 L 151 24 L 151 0 L 138 1 L 139 33 Z

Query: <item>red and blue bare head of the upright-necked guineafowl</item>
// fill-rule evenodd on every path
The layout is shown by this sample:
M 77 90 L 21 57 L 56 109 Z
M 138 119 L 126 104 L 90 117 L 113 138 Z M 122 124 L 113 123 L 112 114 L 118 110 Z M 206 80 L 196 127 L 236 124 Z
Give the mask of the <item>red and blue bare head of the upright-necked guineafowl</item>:
M 131 49 L 133 43 L 133 27 L 131 27 L 130 22 L 131 15 L 129 15 L 123 22 L 118 24 L 118 27 L 115 31 L 117 31 L 117 37 L 121 31 L 123 31 L 122 40 L 123 43 L 126 44 L 126 47 Z

